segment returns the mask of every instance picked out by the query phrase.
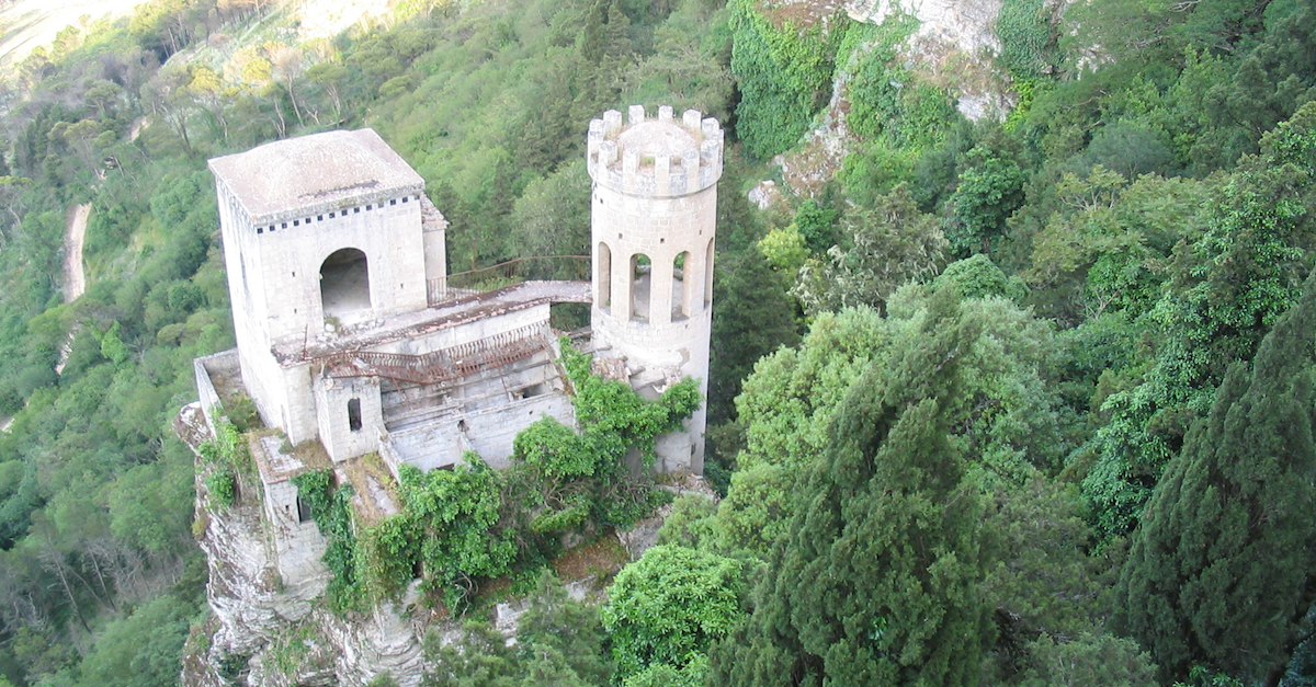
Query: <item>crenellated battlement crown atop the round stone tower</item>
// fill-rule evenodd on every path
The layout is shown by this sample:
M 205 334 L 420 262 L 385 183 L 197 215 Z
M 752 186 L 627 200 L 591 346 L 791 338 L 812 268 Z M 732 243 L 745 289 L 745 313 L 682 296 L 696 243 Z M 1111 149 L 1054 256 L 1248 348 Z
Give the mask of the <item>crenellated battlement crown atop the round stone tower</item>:
M 703 191 L 722 175 L 722 128 L 687 109 L 679 120 L 670 105 L 646 118 L 630 105 L 629 121 L 609 109 L 590 122 L 587 166 L 595 183 L 632 196 L 672 197 Z

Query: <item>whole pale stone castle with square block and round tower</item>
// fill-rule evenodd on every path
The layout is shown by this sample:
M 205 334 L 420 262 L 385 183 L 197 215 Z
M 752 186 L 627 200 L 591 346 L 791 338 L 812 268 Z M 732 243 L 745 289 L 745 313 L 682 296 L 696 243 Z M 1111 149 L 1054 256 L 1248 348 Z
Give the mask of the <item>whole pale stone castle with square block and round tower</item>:
M 592 283 L 494 291 L 451 287 L 446 220 L 370 129 L 212 159 L 237 349 L 197 359 L 197 388 L 207 421 L 245 391 L 278 430 L 250 446 L 283 584 L 313 596 L 326 574 L 290 476 L 333 467 L 358 511 L 387 515 L 403 463 L 501 467 L 540 417 L 574 425 L 554 304 L 594 303 L 599 370 L 650 397 L 683 376 L 707 392 L 721 146 L 696 111 L 607 112 L 588 133 Z M 700 472 L 704 411 L 655 447 L 659 470 Z

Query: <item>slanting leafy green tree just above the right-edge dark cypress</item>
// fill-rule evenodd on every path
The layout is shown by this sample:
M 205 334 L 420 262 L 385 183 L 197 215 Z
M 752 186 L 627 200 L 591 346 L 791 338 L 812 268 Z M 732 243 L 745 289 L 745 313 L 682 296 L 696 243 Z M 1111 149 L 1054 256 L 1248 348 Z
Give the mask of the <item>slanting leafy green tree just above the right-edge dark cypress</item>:
M 1141 383 L 1112 394 L 1084 495 L 1105 534 L 1130 530 L 1191 422 L 1212 404 L 1227 367 L 1249 359 L 1296 300 L 1316 243 L 1316 103 L 1266 136 L 1207 208 L 1207 229 L 1174 251 L 1150 311 L 1158 337 Z

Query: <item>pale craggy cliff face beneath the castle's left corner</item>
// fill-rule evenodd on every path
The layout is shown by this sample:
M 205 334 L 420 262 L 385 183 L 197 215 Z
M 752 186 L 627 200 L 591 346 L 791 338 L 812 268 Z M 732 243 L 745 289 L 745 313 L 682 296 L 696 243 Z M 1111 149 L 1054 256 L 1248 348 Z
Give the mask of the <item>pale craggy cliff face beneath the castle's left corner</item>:
M 209 436 L 196 404 L 175 424 L 195 449 Z M 245 487 L 245 484 L 243 484 Z M 197 483 L 199 517 L 205 522 L 200 545 L 209 562 L 207 600 L 213 619 L 205 655 L 184 657 L 188 687 L 365 684 L 384 671 L 404 687 L 420 683 L 421 638 L 433 624 L 429 612 L 400 613 L 380 607 L 343 619 L 324 607 L 328 576 L 284 587 L 274 565 L 258 490 L 232 508 L 205 511 L 205 488 Z M 415 595 L 407 601 L 413 601 Z M 243 661 L 245 659 L 245 661 Z M 245 667 L 243 667 L 245 663 Z M 237 667 L 234 667 L 237 666 Z

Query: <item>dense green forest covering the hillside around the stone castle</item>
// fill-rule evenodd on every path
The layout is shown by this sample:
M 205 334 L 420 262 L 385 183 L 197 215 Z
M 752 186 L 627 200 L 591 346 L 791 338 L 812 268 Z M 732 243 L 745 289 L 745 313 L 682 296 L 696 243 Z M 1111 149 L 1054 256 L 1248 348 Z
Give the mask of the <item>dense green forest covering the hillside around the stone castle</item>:
M 151 0 L 4 84 L 0 686 L 176 684 L 204 623 L 170 422 L 233 345 L 207 158 L 372 126 L 461 271 L 587 254 L 586 124 L 632 103 L 729 133 L 722 499 L 678 499 L 601 605 L 522 571 L 520 641 L 472 612 L 429 684 L 1316 682 L 1309 0 L 1004 0 L 1015 105 L 979 121 L 917 20 L 834 3 L 290 12 Z M 841 165 L 749 203 L 833 88 Z

